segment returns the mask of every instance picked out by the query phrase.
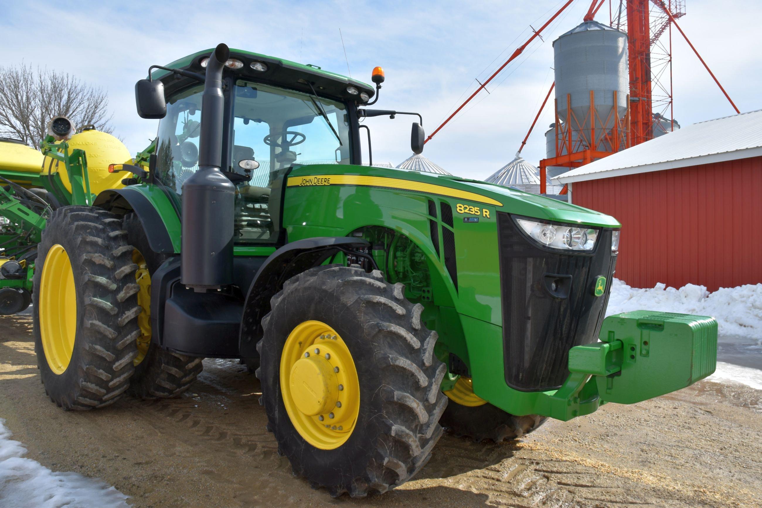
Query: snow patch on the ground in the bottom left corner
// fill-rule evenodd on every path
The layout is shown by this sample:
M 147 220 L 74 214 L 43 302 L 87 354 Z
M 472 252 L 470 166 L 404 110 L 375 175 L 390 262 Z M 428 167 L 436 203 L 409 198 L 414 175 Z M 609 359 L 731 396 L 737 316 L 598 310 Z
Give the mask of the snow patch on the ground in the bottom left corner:
M 15 508 L 129 508 L 126 496 L 103 481 L 78 473 L 54 473 L 24 458 L 27 449 L 10 439 L 11 431 L 0 418 L 0 506 Z

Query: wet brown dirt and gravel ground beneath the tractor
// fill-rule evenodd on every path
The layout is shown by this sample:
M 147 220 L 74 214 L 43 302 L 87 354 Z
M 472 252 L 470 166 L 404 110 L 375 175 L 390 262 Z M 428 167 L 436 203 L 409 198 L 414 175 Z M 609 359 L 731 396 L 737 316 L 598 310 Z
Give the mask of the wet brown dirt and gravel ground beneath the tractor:
M 64 412 L 46 398 L 30 317 L 0 318 L 0 417 L 53 471 L 102 478 L 133 506 L 762 506 L 762 391 L 700 382 L 551 421 L 514 443 L 447 434 L 414 481 L 331 499 L 294 478 L 264 430 L 259 383 L 204 362 L 171 401 Z

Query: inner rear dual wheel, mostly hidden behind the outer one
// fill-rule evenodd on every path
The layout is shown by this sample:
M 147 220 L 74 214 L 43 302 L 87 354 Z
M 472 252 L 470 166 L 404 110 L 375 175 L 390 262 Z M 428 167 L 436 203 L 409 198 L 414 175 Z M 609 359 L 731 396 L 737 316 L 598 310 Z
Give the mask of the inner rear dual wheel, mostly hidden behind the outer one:
M 146 231 L 134 213 L 124 217 L 124 229 L 135 248 L 135 282 L 140 287 L 138 305 L 142 308 L 138 317 L 141 333 L 137 340 L 138 356 L 133 361 L 135 375 L 130 382 L 130 395 L 148 399 L 179 397 L 196 381 L 203 369 L 203 358 L 162 350 L 152 340 L 151 276 L 168 256 L 151 250 Z

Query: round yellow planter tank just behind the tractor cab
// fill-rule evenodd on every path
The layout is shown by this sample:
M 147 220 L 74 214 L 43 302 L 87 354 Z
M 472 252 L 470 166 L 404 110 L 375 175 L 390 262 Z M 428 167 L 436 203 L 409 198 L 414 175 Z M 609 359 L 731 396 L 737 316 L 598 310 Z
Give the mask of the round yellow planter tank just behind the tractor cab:
M 97 195 L 106 189 L 124 187 L 122 180 L 129 177 L 129 174 L 108 172 L 108 165 L 123 164 L 132 159 L 130 150 L 127 149 L 123 142 L 120 142 L 119 139 L 108 133 L 93 129 L 75 134 L 72 136 L 72 139 L 69 139 L 68 143 L 69 152 L 74 149 L 81 149 L 87 154 L 91 193 Z M 63 163 L 46 157 L 43 168 L 46 173 L 49 169 L 51 172 L 56 172 L 59 168 L 63 169 Z M 69 181 L 69 174 L 66 171 L 61 171 L 60 177 L 63 186 L 71 192 L 72 184 Z

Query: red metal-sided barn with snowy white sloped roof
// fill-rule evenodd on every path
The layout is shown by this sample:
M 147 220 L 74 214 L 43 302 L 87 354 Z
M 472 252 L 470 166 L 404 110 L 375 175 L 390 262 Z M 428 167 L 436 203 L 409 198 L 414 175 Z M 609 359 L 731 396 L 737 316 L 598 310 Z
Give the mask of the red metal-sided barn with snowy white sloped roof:
M 709 120 L 560 175 L 569 199 L 622 224 L 632 287 L 762 283 L 762 110 Z

